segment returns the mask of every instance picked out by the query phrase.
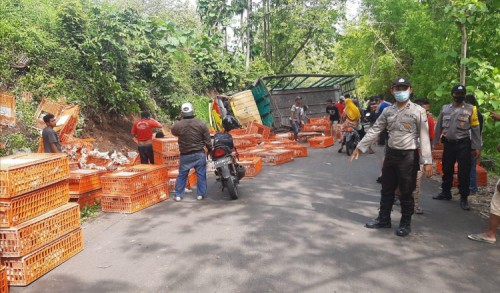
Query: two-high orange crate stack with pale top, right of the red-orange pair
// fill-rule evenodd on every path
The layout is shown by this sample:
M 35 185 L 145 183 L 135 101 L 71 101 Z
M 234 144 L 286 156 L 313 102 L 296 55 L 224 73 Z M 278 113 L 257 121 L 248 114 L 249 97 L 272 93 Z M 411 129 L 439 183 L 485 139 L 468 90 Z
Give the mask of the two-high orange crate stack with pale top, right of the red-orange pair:
M 168 169 L 135 165 L 101 176 L 103 212 L 135 213 L 168 199 Z

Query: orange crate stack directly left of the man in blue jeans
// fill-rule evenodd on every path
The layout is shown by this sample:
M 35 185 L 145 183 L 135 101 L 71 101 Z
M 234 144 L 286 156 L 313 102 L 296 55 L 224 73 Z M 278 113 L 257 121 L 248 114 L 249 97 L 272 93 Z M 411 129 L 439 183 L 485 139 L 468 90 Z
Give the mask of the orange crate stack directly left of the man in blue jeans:
M 164 165 L 169 169 L 179 167 L 179 143 L 177 137 L 153 138 L 155 165 Z

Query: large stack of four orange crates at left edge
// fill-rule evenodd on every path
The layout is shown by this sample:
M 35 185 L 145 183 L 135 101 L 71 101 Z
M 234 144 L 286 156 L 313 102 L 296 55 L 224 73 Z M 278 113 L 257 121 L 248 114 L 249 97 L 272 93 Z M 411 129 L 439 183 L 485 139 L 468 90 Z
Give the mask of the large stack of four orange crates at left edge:
M 11 286 L 26 286 L 83 249 L 69 200 L 66 154 L 0 158 L 0 256 Z

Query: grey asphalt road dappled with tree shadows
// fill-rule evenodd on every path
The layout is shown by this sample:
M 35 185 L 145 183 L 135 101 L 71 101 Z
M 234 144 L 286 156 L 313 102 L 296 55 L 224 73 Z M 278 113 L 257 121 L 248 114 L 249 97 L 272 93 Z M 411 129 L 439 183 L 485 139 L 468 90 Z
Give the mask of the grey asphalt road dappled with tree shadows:
M 187 194 L 141 212 L 84 223 L 85 249 L 11 292 L 498 292 L 500 249 L 470 241 L 486 221 L 454 198 L 433 201 L 413 232 L 370 230 L 377 216 L 381 148 L 350 163 L 337 146 L 265 166 L 229 201 L 212 177 L 210 199 Z

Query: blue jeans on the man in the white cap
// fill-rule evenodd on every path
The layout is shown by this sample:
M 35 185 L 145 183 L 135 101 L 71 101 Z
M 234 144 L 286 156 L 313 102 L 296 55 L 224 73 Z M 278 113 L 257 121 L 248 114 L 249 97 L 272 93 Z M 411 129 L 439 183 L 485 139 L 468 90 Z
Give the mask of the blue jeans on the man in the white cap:
M 181 155 L 179 162 L 179 176 L 175 181 L 175 197 L 182 198 L 189 171 L 194 168 L 198 176 L 196 184 L 197 193 L 203 197 L 207 194 L 207 158 L 205 152 L 199 152 L 189 155 Z

